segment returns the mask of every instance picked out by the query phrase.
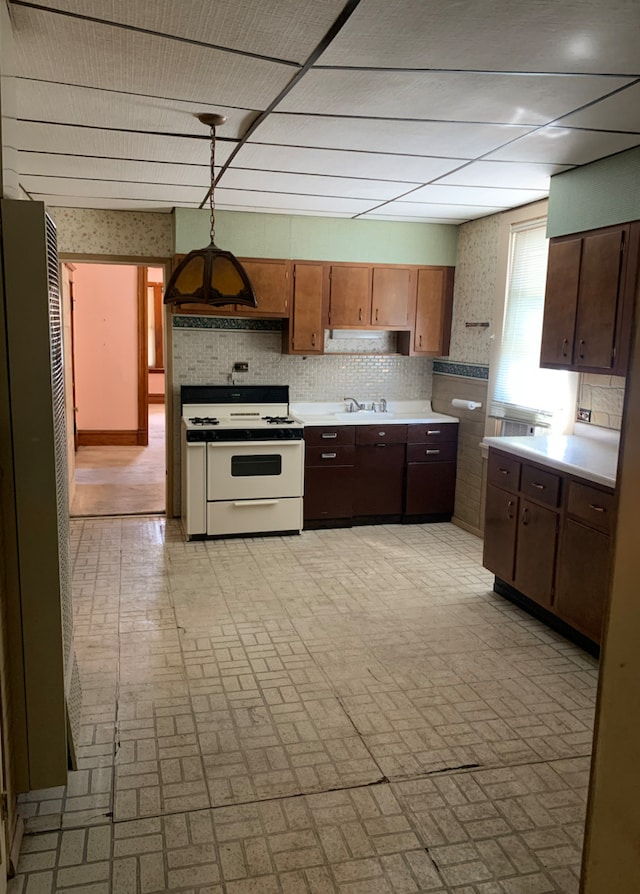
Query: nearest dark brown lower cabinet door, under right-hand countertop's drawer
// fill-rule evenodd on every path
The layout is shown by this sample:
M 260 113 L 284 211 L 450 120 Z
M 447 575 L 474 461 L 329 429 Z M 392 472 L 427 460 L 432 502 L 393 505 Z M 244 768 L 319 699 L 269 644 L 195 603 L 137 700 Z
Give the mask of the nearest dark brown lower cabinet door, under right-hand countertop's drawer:
M 599 643 L 609 593 L 611 540 L 601 531 L 566 519 L 558 558 L 555 610 Z

